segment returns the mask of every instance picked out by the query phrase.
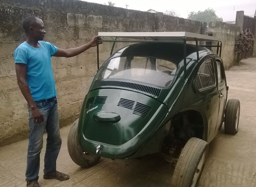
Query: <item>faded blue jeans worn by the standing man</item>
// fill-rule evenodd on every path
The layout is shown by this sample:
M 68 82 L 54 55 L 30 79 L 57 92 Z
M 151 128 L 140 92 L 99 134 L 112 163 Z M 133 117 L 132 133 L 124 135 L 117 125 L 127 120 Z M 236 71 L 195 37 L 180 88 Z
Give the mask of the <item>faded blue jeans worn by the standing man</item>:
M 56 97 L 50 101 L 35 102 L 44 116 L 44 121 L 34 123 L 29 108 L 29 146 L 27 155 L 26 181 L 37 181 L 40 167 L 40 153 L 43 147 L 44 131 L 47 132 L 46 152 L 44 155 L 44 173 L 56 170 L 56 160 L 61 149 L 61 135 L 58 120 Z

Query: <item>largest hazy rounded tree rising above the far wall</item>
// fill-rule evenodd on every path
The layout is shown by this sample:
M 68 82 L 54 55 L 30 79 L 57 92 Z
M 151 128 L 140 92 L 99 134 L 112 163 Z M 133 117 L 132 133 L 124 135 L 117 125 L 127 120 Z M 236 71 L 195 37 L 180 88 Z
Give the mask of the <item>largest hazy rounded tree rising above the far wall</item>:
M 192 11 L 189 13 L 188 19 L 206 22 L 207 25 L 211 21 L 223 21 L 222 17 L 218 17 L 215 13 L 215 10 L 213 10 L 212 8 L 207 8 L 204 11 L 198 11 L 198 12 Z

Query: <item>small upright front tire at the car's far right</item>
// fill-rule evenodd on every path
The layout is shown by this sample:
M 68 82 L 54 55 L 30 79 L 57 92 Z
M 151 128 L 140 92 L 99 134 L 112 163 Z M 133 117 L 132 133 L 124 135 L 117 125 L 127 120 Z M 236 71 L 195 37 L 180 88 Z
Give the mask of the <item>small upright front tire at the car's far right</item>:
M 225 110 L 224 131 L 227 134 L 238 132 L 240 116 L 240 102 L 238 99 L 229 99 Z

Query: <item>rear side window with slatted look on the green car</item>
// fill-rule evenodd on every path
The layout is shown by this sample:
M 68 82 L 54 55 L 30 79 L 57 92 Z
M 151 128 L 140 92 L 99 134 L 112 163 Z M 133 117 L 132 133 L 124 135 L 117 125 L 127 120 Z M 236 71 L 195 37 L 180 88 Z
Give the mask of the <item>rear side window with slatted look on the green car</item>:
M 215 85 L 215 74 L 212 59 L 208 59 L 202 63 L 197 74 L 197 88 L 203 90 Z

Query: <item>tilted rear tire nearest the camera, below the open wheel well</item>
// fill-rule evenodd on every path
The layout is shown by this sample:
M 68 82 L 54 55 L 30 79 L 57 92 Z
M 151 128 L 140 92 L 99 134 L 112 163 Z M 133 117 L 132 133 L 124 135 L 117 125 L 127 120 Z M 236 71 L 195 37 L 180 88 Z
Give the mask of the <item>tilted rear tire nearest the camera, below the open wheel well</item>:
M 204 169 L 207 150 L 208 143 L 204 140 L 189 139 L 177 161 L 172 176 L 172 187 L 195 187 L 197 185 Z M 194 178 L 194 176 L 197 177 Z

